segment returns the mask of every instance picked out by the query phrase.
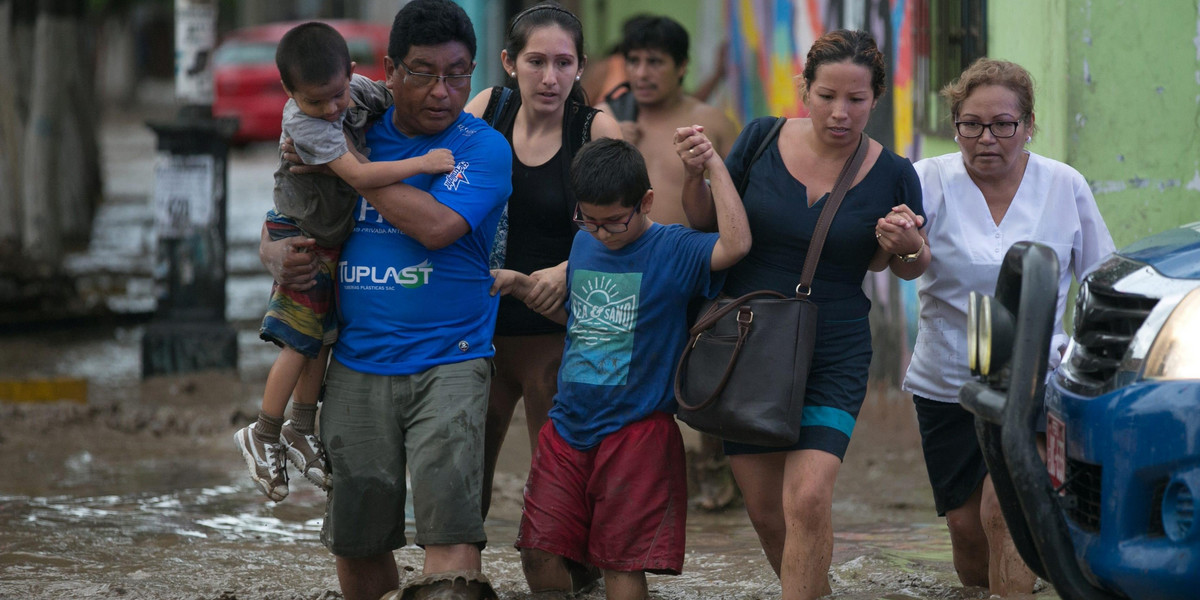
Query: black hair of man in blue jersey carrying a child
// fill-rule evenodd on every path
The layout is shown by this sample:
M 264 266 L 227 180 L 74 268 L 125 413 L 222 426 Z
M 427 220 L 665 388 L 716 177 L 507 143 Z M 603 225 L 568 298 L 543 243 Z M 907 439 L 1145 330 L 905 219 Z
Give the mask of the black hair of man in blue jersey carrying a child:
M 450 0 L 413 0 L 396 13 L 388 37 L 388 56 L 397 66 L 409 48 L 462 42 L 475 60 L 475 28 L 461 6 Z

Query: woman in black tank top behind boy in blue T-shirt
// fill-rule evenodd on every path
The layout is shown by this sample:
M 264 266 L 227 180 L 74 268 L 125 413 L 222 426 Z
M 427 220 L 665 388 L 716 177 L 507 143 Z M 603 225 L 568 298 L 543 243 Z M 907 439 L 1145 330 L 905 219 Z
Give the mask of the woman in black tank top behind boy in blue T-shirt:
M 544 2 L 517 14 L 500 60 L 509 74 L 508 89 L 484 91 L 466 108 L 504 133 L 512 146 L 508 229 L 497 236 L 506 242 L 502 252 L 493 250 L 492 266 L 532 275 L 538 281 L 533 294 L 538 300 L 530 305 L 550 310 L 565 298 L 566 258 L 578 230 L 571 221 L 571 158 L 592 138 L 620 138 L 620 126 L 587 103 L 580 85 L 587 61 L 583 28 L 562 6 Z M 485 516 L 500 444 L 522 397 L 530 452 L 536 449 L 538 432 L 547 422 L 558 389 L 564 338 L 562 325 L 502 296 L 484 446 Z

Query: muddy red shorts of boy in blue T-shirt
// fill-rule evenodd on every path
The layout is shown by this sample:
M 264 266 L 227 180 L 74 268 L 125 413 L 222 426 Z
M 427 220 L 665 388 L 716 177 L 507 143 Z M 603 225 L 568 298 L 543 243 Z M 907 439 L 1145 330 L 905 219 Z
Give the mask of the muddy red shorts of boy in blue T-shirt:
M 516 547 L 608 571 L 683 570 L 688 476 L 674 418 L 654 413 L 571 448 L 547 421 L 538 434 Z

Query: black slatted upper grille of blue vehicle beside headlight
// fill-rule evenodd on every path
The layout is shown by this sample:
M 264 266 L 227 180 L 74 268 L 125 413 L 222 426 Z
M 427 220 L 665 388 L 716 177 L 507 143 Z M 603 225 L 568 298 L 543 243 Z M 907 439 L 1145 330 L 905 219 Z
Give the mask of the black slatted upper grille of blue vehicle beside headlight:
M 1117 293 L 1096 281 L 1080 289 L 1075 302 L 1075 346 L 1066 365 L 1066 374 L 1076 390 L 1105 391 L 1105 384 L 1116 374 L 1134 335 L 1156 304 L 1157 298 Z

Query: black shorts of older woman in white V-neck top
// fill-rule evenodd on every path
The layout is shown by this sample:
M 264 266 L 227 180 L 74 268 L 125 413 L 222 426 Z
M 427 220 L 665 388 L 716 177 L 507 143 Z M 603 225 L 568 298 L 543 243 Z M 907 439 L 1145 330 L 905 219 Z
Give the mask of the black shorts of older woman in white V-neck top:
M 938 402 L 912 397 L 920 428 L 920 449 L 925 454 L 929 485 L 934 487 L 937 516 L 954 510 L 971 498 L 988 475 L 974 415 L 958 402 Z

